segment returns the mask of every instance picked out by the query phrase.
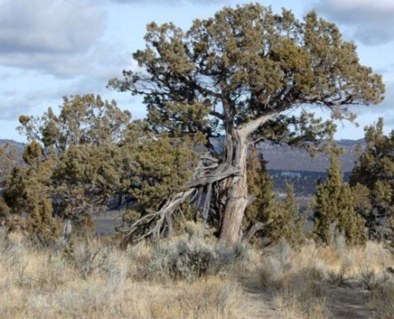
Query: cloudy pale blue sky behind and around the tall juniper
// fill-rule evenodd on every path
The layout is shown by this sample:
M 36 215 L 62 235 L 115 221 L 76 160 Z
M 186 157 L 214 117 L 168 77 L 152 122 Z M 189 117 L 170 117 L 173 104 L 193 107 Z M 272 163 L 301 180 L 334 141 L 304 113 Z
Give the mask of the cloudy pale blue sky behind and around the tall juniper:
M 145 27 L 173 22 L 187 30 L 240 0 L 0 0 L 0 139 L 24 142 L 15 130 L 21 114 L 55 110 L 63 96 L 95 93 L 142 118 L 141 99 L 107 89 L 108 79 L 136 68 L 131 53 L 144 47 Z M 394 0 L 270 0 L 275 12 L 308 11 L 335 22 L 358 46 L 360 61 L 382 74 L 383 103 L 354 106 L 359 127 L 338 123 L 337 139 L 360 139 L 363 127 L 385 119 L 394 129 Z M 318 114 L 327 116 L 317 109 Z

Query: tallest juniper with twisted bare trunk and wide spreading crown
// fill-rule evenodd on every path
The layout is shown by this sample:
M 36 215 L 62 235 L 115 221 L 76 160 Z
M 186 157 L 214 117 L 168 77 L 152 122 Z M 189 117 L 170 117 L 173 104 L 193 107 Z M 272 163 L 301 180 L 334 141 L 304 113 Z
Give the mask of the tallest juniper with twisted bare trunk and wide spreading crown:
M 334 125 L 289 110 L 321 106 L 333 118 L 353 119 L 347 106 L 379 103 L 384 93 L 381 76 L 360 64 L 356 45 L 343 41 L 338 28 L 313 11 L 297 20 L 289 10 L 275 14 L 260 4 L 225 7 L 212 18 L 194 20 L 187 31 L 152 22 L 145 41 L 133 54 L 143 71 L 124 71 L 123 79 L 109 85 L 143 96 L 147 120 L 158 132 L 205 135 L 216 161 L 200 170 L 170 207 L 202 189 L 207 201 L 214 199 L 220 238 L 230 243 L 240 239 L 250 203 L 251 144 L 270 140 L 311 147 Z M 222 155 L 210 140 L 219 134 L 225 135 Z

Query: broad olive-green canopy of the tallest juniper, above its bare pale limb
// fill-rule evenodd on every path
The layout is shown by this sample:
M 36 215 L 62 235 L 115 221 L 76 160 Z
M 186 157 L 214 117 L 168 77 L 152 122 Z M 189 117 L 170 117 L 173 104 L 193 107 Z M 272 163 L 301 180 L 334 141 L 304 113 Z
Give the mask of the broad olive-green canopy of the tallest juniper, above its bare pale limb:
M 355 44 L 315 12 L 299 21 L 259 4 L 226 7 L 186 32 L 151 23 L 145 40 L 133 54 L 144 72 L 124 71 L 110 85 L 142 94 L 161 129 L 212 135 L 222 128 L 216 123 L 228 131 L 300 104 L 343 117 L 340 106 L 379 103 L 384 92 Z

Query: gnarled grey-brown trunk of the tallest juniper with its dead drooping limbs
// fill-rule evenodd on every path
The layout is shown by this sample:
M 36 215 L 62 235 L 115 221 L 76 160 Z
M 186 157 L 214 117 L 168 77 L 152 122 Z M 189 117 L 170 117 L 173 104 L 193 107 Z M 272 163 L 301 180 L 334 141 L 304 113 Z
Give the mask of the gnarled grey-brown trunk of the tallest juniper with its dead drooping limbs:
M 220 240 L 230 245 L 241 241 L 242 218 L 246 207 L 251 203 L 246 180 L 248 146 L 253 142 L 250 141 L 250 135 L 273 116 L 274 113 L 266 114 L 237 129 L 228 129 L 225 160 L 221 162 L 209 154 L 202 156 L 194 178 L 185 185 L 187 190 L 168 199 L 159 211 L 148 213 L 134 222 L 124 236 L 122 247 L 126 248 L 130 242 L 140 241 L 148 236 L 160 238 L 171 233 L 171 218 L 179 205 L 187 199 L 200 211 L 200 217 L 206 223 L 208 213 L 212 211 L 213 198 L 215 209 L 218 210 L 214 213 L 219 215 Z M 201 205 L 203 193 L 205 198 Z M 138 236 L 137 230 L 141 227 L 146 229 Z M 261 228 L 262 225 L 257 227 Z M 250 233 L 253 234 L 256 229 L 252 227 Z M 246 238 L 248 236 L 251 235 L 246 234 Z

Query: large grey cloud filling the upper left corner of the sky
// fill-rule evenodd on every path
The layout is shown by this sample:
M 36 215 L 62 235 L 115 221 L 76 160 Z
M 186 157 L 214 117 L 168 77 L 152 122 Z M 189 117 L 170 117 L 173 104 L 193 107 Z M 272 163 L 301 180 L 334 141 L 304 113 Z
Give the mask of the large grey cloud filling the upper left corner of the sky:
M 67 75 L 103 32 L 104 12 L 85 1 L 0 0 L 0 65 Z

